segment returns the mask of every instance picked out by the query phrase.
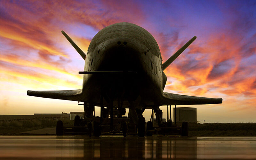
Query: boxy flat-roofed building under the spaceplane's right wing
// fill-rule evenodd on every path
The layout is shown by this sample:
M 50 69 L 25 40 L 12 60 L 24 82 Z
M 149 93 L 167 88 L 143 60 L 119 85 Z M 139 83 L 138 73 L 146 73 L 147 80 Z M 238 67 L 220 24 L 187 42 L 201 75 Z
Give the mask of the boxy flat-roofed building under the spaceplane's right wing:
M 194 122 L 196 123 L 196 108 L 177 107 L 176 122 Z M 173 108 L 173 118 L 175 118 L 175 108 Z

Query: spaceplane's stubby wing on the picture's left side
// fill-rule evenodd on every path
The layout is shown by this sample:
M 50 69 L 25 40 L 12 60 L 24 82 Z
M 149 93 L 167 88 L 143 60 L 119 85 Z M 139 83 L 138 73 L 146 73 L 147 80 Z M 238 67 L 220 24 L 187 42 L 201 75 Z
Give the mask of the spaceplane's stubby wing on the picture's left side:
M 52 98 L 59 100 L 83 101 L 82 89 L 66 91 L 27 91 L 28 96 Z

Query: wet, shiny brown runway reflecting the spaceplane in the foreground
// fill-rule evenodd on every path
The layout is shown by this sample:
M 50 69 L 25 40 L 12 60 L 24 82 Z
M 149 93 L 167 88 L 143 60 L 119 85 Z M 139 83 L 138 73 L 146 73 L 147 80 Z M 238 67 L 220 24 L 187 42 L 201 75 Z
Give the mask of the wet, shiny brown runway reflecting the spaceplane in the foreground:
M 256 137 L 0 136 L 0 159 L 256 159 Z

